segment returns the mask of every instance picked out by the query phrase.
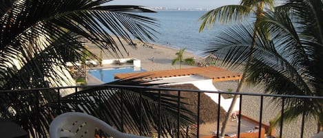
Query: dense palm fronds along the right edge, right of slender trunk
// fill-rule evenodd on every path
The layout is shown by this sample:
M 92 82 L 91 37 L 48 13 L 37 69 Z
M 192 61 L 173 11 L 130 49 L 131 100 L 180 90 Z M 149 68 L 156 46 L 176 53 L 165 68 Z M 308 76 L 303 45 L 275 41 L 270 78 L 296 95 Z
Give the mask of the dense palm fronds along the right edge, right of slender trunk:
M 264 84 L 267 93 L 322 96 L 322 5 L 322 1 L 291 0 L 265 14 L 256 24 L 259 33 L 251 60 L 247 50 L 254 40 L 251 25 L 238 25 L 218 34 L 207 52 L 225 52 L 223 65 L 231 69 L 248 62 L 246 82 Z M 261 31 L 264 29 L 268 32 Z M 317 120 L 317 132 L 323 130 L 322 100 L 284 98 L 282 104 L 284 113 L 275 117 L 275 124 L 282 118 L 289 122 L 304 115 Z

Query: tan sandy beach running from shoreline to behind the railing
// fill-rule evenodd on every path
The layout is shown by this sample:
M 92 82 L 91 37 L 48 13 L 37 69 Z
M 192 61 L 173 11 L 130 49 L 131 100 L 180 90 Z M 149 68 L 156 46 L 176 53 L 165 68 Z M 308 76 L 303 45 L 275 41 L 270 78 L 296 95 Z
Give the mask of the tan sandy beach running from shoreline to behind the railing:
M 171 47 L 166 47 L 163 45 L 154 45 L 148 44 L 146 46 L 143 43 L 138 41 L 134 41 L 136 43 L 136 48 L 131 45 L 125 45 L 127 52 L 121 49 L 121 53 L 123 57 L 121 58 L 137 58 L 141 61 L 141 67 L 147 71 L 156 71 L 156 70 L 165 70 L 165 69 L 179 69 L 180 65 L 171 65 L 171 60 L 176 58 L 176 52 L 179 49 L 174 49 Z M 89 46 L 90 51 L 92 51 L 96 56 L 99 56 L 100 49 L 93 47 L 91 44 L 87 44 Z M 116 58 L 116 56 L 112 56 L 112 54 L 108 54 L 107 51 L 103 52 L 103 59 L 111 59 Z M 129 55 L 128 55 L 129 54 Z M 196 60 L 201 60 L 200 57 L 190 53 L 185 52 L 183 55 L 184 58 L 195 58 Z M 152 60 L 154 59 L 154 60 Z M 191 65 L 183 64 L 182 68 L 196 67 Z M 228 89 L 236 90 L 237 82 L 216 82 L 214 85 L 217 89 L 221 89 L 223 91 L 227 91 Z M 262 86 L 247 86 L 242 89 L 244 92 L 249 93 L 263 93 L 264 90 Z M 260 98 L 245 96 L 242 99 L 242 113 L 254 119 L 259 119 L 260 115 Z M 279 108 L 276 108 L 276 103 L 271 102 L 269 98 L 264 99 L 264 111 L 263 111 L 263 123 L 269 124 L 269 121 L 272 117 L 274 117 L 277 113 L 280 112 Z M 289 124 L 284 124 L 283 126 L 283 137 L 300 137 L 300 124 L 301 119 L 296 119 L 296 121 L 291 122 Z M 205 124 L 207 127 L 211 124 Z M 214 126 L 216 128 L 216 126 Z M 314 120 L 310 120 L 306 122 L 304 130 L 304 137 L 310 137 L 316 132 L 316 124 Z M 279 128 L 275 129 L 275 134 L 279 135 Z

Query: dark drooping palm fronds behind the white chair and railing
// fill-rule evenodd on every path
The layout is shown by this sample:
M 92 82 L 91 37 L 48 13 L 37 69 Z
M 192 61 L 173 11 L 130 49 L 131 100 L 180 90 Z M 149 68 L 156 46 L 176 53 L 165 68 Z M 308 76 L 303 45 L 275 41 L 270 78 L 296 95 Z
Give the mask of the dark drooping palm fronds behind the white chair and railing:
M 137 78 L 132 78 L 118 82 L 135 84 L 141 88 L 127 88 L 112 82 L 101 87 L 89 87 L 65 97 L 58 95 L 56 89 L 1 93 L 1 118 L 17 122 L 32 137 L 46 137 L 52 119 L 70 111 L 94 115 L 118 130 L 136 135 L 141 131 L 149 136 L 151 132 L 158 130 L 160 122 L 162 135 L 176 132 L 178 96 L 146 89 L 144 87 L 152 84 L 136 80 Z M 59 91 L 63 92 L 62 89 Z M 194 124 L 196 117 L 183 107 L 187 103 L 182 100 L 180 104 L 180 128 L 186 128 Z M 160 113 L 161 120 L 156 113 Z

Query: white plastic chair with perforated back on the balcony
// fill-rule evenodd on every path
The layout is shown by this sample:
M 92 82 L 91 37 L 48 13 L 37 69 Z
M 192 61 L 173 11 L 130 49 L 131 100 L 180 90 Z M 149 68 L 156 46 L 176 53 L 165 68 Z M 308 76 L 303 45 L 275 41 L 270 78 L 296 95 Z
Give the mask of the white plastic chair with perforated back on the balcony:
M 57 116 L 50 124 L 50 138 L 83 137 L 94 138 L 95 130 L 102 130 L 111 137 L 147 138 L 138 135 L 121 133 L 101 119 L 85 113 L 70 112 Z

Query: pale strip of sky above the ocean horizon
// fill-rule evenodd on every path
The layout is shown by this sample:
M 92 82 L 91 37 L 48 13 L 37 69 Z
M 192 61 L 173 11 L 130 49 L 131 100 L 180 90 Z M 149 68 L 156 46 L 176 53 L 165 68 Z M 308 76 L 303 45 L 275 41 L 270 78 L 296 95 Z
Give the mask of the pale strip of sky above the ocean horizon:
M 221 5 L 239 4 L 240 0 L 114 0 L 109 4 L 143 5 L 165 8 L 218 8 Z

